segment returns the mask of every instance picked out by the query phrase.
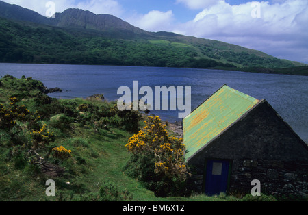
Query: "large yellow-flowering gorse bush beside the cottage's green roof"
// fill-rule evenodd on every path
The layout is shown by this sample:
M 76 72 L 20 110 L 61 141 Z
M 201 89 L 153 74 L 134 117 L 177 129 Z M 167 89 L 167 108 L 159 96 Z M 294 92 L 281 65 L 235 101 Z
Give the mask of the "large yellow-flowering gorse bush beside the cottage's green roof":
M 184 163 L 183 138 L 169 136 L 158 116 L 148 116 L 144 123 L 144 128 L 125 145 L 132 153 L 127 173 L 138 177 L 157 196 L 185 194 L 189 173 Z

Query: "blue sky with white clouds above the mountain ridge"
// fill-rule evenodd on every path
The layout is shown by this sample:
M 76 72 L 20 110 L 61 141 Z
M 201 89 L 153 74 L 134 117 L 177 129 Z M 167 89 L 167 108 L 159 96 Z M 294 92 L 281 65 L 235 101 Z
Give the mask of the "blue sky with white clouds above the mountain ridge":
M 308 0 L 1 0 L 44 16 L 67 8 L 112 14 L 146 31 L 220 40 L 308 64 Z

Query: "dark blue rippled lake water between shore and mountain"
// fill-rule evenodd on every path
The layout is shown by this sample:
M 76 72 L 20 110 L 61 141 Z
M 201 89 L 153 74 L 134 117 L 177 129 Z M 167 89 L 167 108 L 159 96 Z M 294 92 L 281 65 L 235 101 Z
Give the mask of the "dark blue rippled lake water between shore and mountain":
M 48 88 L 59 87 L 63 92 L 49 94 L 56 98 L 86 98 L 104 94 L 116 100 L 120 86 L 139 88 L 150 86 L 191 86 L 192 110 L 216 92 L 223 84 L 255 97 L 266 99 L 279 115 L 308 142 L 308 77 L 271 75 L 238 71 L 215 71 L 194 68 L 156 68 L 135 66 L 84 66 L 49 64 L 0 64 L 0 76 L 33 77 Z M 184 100 L 185 101 L 185 100 Z M 179 111 L 153 111 L 163 120 L 179 121 Z

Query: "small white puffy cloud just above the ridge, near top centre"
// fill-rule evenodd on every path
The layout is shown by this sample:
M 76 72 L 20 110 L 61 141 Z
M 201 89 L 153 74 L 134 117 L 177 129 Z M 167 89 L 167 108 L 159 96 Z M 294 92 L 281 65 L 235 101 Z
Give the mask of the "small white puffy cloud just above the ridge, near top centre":
M 135 14 L 126 19 L 131 25 L 146 31 L 170 31 L 173 21 L 172 10 L 152 10 L 147 14 Z

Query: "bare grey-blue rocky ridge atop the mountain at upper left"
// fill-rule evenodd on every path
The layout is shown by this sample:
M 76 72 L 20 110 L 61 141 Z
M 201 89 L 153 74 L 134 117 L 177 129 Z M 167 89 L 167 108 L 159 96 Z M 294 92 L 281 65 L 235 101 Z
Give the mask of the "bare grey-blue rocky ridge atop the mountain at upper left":
M 56 13 L 55 18 L 47 18 L 32 10 L 0 1 L 0 17 L 57 27 L 121 32 L 122 34 L 150 34 L 116 16 L 110 14 L 94 14 L 90 11 L 74 8 L 64 10 L 62 13 Z

